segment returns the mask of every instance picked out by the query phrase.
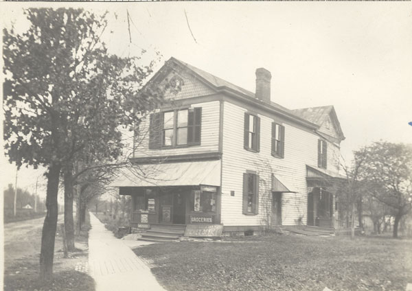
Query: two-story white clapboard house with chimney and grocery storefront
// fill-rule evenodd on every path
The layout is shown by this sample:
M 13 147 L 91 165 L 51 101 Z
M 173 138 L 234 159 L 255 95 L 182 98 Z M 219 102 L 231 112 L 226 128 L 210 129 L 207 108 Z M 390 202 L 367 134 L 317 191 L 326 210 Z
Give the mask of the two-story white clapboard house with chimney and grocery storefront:
M 159 82 L 172 84 L 165 103 L 137 130 L 135 168 L 113 183 L 133 198 L 133 226 L 334 226 L 345 137 L 333 106 L 271 102 L 263 68 L 255 93 L 175 58 L 146 86 Z

